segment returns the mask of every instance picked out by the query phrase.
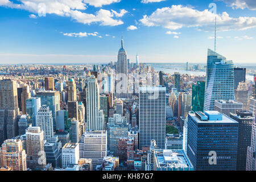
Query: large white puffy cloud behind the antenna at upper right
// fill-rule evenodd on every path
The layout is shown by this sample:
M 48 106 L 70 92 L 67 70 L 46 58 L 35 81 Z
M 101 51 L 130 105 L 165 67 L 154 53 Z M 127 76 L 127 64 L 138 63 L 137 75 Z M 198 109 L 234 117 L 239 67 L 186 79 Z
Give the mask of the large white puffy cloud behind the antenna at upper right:
M 156 9 L 151 15 L 144 15 L 139 21 L 144 26 L 162 26 L 170 30 L 177 30 L 182 27 L 197 27 L 198 30 L 214 31 L 214 20 L 216 15 L 208 10 L 199 11 L 192 7 L 172 5 Z M 217 30 L 246 30 L 256 27 L 256 17 L 240 16 L 232 18 L 224 12 L 217 15 Z

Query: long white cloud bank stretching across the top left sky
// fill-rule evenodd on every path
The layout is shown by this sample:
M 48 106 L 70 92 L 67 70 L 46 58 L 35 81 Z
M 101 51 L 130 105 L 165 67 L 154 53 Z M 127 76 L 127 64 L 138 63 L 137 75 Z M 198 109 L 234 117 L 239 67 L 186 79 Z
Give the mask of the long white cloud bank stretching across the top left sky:
M 120 13 L 113 13 L 109 10 L 100 9 L 95 14 L 83 13 L 86 10 L 86 3 L 93 3 L 93 6 L 104 5 L 104 1 L 84 1 L 84 0 L 19 0 L 20 3 L 13 3 L 9 0 L 0 0 L 0 6 L 23 9 L 34 14 L 56 14 L 59 16 L 70 17 L 79 23 L 90 24 L 100 23 L 105 26 L 117 26 L 123 24 L 122 20 L 116 19 L 120 17 L 126 10 Z M 105 3 L 119 2 L 117 0 L 108 0 Z M 103 3 L 103 4 L 102 4 Z

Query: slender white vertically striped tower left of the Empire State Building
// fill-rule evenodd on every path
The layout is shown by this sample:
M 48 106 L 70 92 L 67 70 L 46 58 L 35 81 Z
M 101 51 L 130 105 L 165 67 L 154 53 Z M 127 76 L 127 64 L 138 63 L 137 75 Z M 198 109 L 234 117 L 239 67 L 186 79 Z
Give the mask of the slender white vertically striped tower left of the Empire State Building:
M 100 110 L 100 93 L 95 77 L 88 78 L 86 88 L 86 130 L 104 130 L 103 111 Z

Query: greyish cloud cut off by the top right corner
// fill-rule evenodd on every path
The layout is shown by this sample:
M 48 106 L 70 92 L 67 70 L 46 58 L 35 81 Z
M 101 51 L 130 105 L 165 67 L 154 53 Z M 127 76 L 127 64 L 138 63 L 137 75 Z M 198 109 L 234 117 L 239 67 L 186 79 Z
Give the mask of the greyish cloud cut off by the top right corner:
M 256 10 L 256 1 L 255 0 L 218 0 L 225 2 L 228 6 L 231 6 L 233 9 L 251 9 Z

